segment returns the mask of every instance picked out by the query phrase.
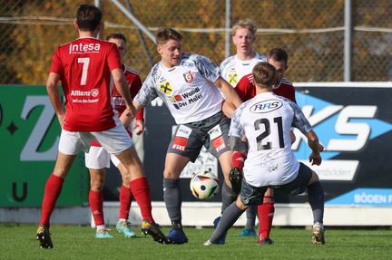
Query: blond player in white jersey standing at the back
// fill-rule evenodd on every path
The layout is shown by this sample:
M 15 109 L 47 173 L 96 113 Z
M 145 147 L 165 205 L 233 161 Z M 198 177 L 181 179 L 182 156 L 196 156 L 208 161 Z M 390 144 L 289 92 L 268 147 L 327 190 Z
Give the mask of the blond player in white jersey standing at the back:
M 232 27 L 232 41 L 237 53 L 220 63 L 221 76 L 235 88 L 240 79 L 249 74 L 254 65 L 267 61 L 267 57 L 253 51 L 257 27 L 250 19 L 240 20 Z

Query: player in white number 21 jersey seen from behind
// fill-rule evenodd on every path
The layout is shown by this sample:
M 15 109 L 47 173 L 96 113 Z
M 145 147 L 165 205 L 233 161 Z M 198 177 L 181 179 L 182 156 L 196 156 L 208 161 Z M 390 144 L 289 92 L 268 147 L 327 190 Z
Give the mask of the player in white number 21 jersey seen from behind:
M 280 189 L 293 196 L 307 190 L 313 212 L 312 244 L 324 245 L 324 188 L 316 172 L 295 158 L 290 128 L 298 128 L 307 137 L 312 165 L 321 164 L 319 138 L 296 103 L 272 92 L 276 78 L 273 65 L 258 63 L 252 72 L 256 96 L 234 112 L 229 133 L 231 148 L 235 148 L 244 135 L 250 147 L 240 196 L 223 212 L 220 224 L 204 245 L 218 245 L 250 205 L 263 202 L 267 188 Z

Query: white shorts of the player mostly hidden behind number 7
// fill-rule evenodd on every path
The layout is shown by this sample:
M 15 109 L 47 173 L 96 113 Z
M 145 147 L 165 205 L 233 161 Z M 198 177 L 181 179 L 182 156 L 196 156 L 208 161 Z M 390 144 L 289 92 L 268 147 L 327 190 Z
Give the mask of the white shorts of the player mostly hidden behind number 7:
M 111 159 L 115 167 L 120 164 L 120 160 L 113 154 L 108 153 L 102 146 L 90 147 L 90 150 L 84 153 L 84 157 L 85 166 L 88 169 L 109 169 Z

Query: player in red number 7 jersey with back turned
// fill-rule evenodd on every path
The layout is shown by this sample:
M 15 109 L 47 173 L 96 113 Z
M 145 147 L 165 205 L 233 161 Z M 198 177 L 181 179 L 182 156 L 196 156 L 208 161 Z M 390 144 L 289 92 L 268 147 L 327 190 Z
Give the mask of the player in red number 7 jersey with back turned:
M 102 27 L 102 12 L 94 5 L 81 5 L 74 26 L 79 38 L 65 43 L 54 53 L 46 90 L 62 127 L 59 150 L 53 173 L 46 181 L 42 215 L 36 232 L 39 246 L 53 248 L 49 233 L 50 217 L 74 159 L 88 151 L 92 140 L 115 155 L 131 173 L 130 186 L 142 211 L 142 232 L 155 241 L 166 237 L 152 217 L 151 194 L 142 163 L 132 144 L 127 127 L 135 114 L 119 50 L 115 43 L 100 41 L 96 36 Z M 62 82 L 65 111 L 57 87 Z M 113 83 L 122 95 L 125 110 L 122 120 L 113 109 Z M 122 125 L 122 122 L 124 125 Z

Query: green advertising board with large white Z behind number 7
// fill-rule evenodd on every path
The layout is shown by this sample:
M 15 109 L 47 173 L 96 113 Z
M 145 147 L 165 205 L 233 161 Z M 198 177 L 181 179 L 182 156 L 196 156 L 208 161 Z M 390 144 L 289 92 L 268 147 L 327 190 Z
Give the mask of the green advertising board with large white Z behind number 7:
M 44 86 L 0 86 L 0 207 L 41 206 L 60 132 Z M 80 153 L 56 205 L 85 205 L 88 190 Z

